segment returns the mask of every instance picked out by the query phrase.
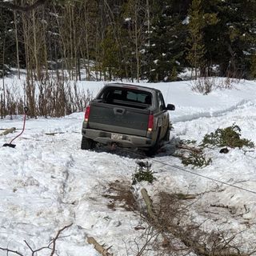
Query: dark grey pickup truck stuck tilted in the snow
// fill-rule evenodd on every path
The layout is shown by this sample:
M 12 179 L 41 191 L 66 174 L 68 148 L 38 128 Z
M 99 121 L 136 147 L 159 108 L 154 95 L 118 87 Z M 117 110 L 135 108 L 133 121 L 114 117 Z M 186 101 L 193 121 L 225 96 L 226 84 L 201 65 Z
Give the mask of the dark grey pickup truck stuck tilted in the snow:
M 154 154 L 169 141 L 170 118 L 160 90 L 146 86 L 109 83 L 86 107 L 82 123 L 82 150 L 96 143 L 138 148 Z

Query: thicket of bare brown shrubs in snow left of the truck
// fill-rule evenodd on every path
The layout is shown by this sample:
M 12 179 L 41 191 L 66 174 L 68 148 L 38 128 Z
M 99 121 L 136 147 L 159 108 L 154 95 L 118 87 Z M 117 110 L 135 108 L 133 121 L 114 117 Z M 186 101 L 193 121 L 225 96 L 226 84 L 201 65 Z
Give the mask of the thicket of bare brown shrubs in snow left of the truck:
M 1 98 L 1 116 L 23 114 L 28 106 L 31 117 L 62 117 L 82 112 L 92 98 L 89 90 L 78 88 L 76 82 L 61 78 L 27 81 L 23 91 L 17 86 L 6 86 L 5 98 Z

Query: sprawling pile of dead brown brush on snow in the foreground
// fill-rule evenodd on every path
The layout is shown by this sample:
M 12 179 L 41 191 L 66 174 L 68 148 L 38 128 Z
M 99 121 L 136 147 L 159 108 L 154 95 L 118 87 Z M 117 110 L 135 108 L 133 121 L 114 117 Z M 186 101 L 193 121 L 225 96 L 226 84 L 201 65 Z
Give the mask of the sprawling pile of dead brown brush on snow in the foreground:
M 122 208 L 138 214 L 141 224 L 134 230 L 143 231 L 129 241 L 133 246 L 127 249 L 127 254 L 131 254 L 130 250 L 136 256 L 245 256 L 256 252 L 255 246 L 245 247 L 241 242 L 242 232 L 222 230 L 221 226 L 206 229 L 206 218 L 204 222 L 195 222 L 190 210 L 199 195 L 159 192 L 154 200 L 146 200 L 142 194 L 145 207 L 136 201 L 130 186 L 130 182 L 116 180 L 108 184 L 103 194 L 110 199 L 107 206 L 111 210 Z

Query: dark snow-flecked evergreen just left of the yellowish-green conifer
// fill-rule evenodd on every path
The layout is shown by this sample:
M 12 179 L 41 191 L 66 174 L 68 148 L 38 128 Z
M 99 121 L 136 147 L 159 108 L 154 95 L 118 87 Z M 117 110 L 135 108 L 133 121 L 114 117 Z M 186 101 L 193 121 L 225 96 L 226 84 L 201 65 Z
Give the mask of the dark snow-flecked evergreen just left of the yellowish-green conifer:
M 183 7 L 183 8 L 182 8 Z M 185 7 L 185 8 L 184 8 Z M 184 64 L 186 5 L 174 0 L 154 2 L 154 18 L 147 45 L 150 82 L 175 81 Z

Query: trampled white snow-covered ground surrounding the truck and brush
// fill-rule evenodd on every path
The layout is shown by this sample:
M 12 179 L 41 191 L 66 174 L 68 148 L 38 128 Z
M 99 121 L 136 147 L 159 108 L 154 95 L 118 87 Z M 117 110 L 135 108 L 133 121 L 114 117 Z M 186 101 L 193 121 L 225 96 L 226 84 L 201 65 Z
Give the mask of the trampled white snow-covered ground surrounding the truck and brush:
M 79 86 L 97 94 L 103 82 L 80 82 Z M 206 133 L 235 123 L 242 129 L 243 138 L 256 143 L 256 82 L 240 82 L 232 90 L 214 90 L 208 95 L 191 91 L 190 82 L 145 86 L 162 90 L 166 103 L 176 106 L 170 112 L 172 141 L 200 142 Z M 33 250 L 48 246 L 58 230 L 73 223 L 56 242 L 58 255 L 98 255 L 87 243 L 88 236 L 113 246 L 114 255 L 136 255 L 133 242 L 142 232 L 134 230 L 140 221 L 138 216 L 122 208 L 111 210 L 107 207 L 109 199 L 103 197 L 110 182 L 131 182 L 136 159 L 107 150 L 80 150 L 82 119 L 83 113 L 28 119 L 24 134 L 14 142 L 16 148 L 0 147 L 0 247 L 30 255 L 26 243 Z M 22 117 L 0 120 L 0 129 L 10 127 L 22 128 Z M 0 145 L 10 142 L 19 131 L 0 136 Z M 141 186 L 153 197 L 161 190 L 196 195 L 191 218 L 203 223 L 205 230 L 242 232 L 239 242 L 250 249 L 256 234 L 256 197 L 252 193 L 256 193 L 256 154 L 254 150 L 239 149 L 228 154 L 209 150 L 208 154 L 213 160 L 210 166 L 194 170 L 182 166 L 178 158 L 158 154 L 148 159 L 156 180 Z M 50 249 L 38 252 L 49 254 Z M 6 255 L 6 251 L 0 250 L 0 255 Z

